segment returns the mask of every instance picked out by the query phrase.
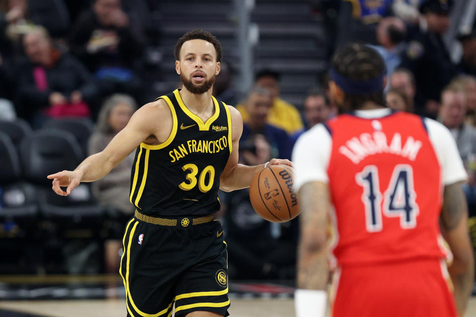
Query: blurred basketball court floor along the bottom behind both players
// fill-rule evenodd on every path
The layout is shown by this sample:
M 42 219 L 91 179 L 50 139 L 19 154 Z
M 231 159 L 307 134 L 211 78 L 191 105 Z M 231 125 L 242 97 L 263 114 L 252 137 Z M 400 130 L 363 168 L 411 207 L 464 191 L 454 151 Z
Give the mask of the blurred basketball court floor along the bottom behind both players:
M 293 291 L 278 283 L 230 282 L 230 316 L 294 317 Z M 0 317 L 120 317 L 124 297 L 115 274 L 0 276 Z M 465 317 L 476 317 L 476 296 Z

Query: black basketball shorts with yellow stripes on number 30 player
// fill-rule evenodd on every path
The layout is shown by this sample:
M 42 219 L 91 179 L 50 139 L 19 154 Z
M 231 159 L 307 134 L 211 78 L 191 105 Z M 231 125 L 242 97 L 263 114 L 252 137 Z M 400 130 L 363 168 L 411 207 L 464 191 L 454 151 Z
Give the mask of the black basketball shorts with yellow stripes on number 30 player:
M 177 225 L 161 225 L 141 219 L 136 213 L 129 220 L 122 240 L 119 272 L 127 316 L 171 317 L 174 304 L 176 317 L 193 311 L 229 316 L 227 244 L 221 223 L 192 225 L 193 217 L 182 217 Z

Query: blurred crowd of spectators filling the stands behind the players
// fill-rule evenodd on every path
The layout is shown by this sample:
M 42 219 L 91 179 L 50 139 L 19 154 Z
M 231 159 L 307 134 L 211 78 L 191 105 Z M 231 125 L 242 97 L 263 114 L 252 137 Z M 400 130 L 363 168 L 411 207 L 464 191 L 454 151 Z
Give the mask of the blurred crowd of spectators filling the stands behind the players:
M 387 106 L 437 119 L 451 130 L 470 174 L 464 186 L 476 216 L 473 2 L 310 0 L 309 8 L 325 20 L 329 57 L 345 43 L 368 44 L 387 65 Z M 31 132 L 51 126 L 52 121 L 78 118 L 91 127 L 86 128 L 86 138 L 84 133 L 74 135 L 83 143 L 81 158 L 102 151 L 133 111 L 152 101 L 144 56 L 157 41 L 157 30 L 147 19 L 153 10 L 152 0 L 0 0 L 0 130 L 5 122 L 21 122 L 28 126 L 23 130 Z M 328 98 L 325 80 L 319 87 L 306 87 L 302 105 L 291 105 L 280 97 L 280 76 L 279 69 L 258 69 L 253 87 L 241 98 L 234 89 L 231 65 L 222 64 L 214 95 L 236 106 L 243 117 L 239 156 L 243 163 L 290 159 L 303 131 L 339 113 Z M 66 124 L 65 130 L 72 126 Z M 13 144 L 21 157 L 27 150 L 17 141 Z M 115 220 L 108 222 L 112 233 L 101 236 L 108 242 L 101 246 L 106 257 L 98 271 L 117 271 L 121 226 L 133 212 L 128 201 L 132 161 L 133 156 L 126 158 L 90 189 L 92 200 L 107 207 L 109 214 L 115 211 Z M 15 207 L 4 198 L 12 181 L 1 182 L 0 216 L 2 208 Z M 294 278 L 297 220 L 276 224 L 262 219 L 251 207 L 247 189 L 220 195 L 230 277 Z M 14 228 L 14 216 L 2 219 L 9 223 L 0 229 L 0 237 L 5 237 Z M 66 254 L 75 250 L 68 248 Z M 247 269 L 238 270 L 243 266 Z M 84 271 L 75 267 L 64 270 Z

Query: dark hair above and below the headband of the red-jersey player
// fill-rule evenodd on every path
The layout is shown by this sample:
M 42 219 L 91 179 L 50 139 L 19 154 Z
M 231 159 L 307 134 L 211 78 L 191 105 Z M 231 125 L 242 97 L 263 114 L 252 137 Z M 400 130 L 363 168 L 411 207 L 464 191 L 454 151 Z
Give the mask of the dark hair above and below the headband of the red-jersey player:
M 381 76 L 385 72 L 385 62 L 374 49 L 352 43 L 338 50 L 332 58 L 332 67 L 337 73 L 355 81 L 367 81 Z M 383 87 L 381 91 L 362 94 L 345 94 L 344 107 L 356 110 L 366 102 L 385 105 Z

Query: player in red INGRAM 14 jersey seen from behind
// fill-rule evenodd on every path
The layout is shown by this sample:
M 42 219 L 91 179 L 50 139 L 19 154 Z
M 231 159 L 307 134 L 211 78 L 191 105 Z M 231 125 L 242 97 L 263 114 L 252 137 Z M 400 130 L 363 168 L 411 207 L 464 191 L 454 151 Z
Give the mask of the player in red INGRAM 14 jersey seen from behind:
M 353 112 L 304 133 L 293 153 L 302 208 L 297 317 L 326 316 L 327 294 L 334 317 L 462 316 L 474 256 L 467 175 L 450 131 L 382 106 L 384 62 L 366 46 L 339 50 L 330 78 L 331 98 Z

